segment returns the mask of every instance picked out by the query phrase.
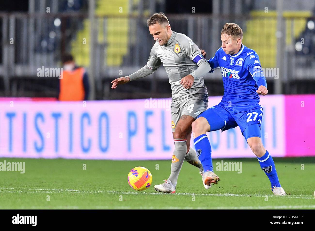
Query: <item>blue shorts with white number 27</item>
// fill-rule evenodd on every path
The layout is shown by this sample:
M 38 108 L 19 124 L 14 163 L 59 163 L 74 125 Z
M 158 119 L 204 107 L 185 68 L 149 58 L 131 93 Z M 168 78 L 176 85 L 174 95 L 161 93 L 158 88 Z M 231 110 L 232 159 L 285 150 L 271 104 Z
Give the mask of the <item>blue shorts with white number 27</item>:
M 239 126 L 247 140 L 250 137 L 261 138 L 262 109 L 259 104 L 229 105 L 226 102 L 220 102 L 201 113 L 198 118 L 207 119 L 210 131 L 219 129 L 225 131 Z

